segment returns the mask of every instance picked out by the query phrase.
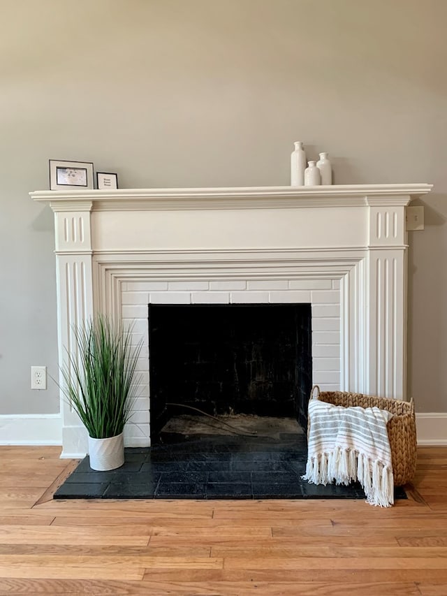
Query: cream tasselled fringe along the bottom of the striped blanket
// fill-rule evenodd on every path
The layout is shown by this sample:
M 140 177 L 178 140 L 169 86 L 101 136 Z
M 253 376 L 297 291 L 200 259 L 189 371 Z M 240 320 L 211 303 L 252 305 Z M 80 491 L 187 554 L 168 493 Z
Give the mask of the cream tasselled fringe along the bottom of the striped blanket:
M 353 449 L 333 449 L 317 453 L 307 459 L 306 474 L 302 476 L 312 484 L 349 484 L 359 481 L 365 490 L 367 502 L 379 507 L 394 504 L 393 469 L 380 461 L 372 461 Z

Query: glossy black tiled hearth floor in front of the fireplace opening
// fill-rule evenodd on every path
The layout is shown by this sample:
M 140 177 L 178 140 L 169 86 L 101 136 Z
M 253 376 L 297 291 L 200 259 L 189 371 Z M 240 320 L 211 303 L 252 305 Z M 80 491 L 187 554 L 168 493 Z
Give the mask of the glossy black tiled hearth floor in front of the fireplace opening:
M 54 499 L 365 499 L 360 484 L 302 481 L 305 435 L 279 438 L 202 436 L 175 444 L 126 449 L 118 470 L 94 472 L 88 456 Z M 396 499 L 406 499 L 403 488 Z

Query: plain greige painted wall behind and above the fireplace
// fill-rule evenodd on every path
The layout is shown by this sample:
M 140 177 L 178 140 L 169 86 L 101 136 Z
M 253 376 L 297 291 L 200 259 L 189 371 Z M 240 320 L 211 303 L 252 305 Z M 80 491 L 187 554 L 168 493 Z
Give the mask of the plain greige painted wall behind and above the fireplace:
M 409 394 L 447 411 L 445 0 L 0 0 L 0 414 L 59 410 L 48 159 L 120 187 L 430 182 L 409 234 Z

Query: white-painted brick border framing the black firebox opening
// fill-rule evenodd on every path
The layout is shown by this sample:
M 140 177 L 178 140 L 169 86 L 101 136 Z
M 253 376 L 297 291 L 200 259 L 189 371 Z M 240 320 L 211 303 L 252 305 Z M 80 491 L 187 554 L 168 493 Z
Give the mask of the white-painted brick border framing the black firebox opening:
M 150 435 L 149 349 L 147 305 L 151 304 L 312 304 L 312 366 L 314 383 L 326 391 L 340 386 L 339 279 L 234 280 L 224 282 L 124 282 L 122 320 L 133 325 L 134 344 L 142 340 L 138 374 L 140 398 L 132 423 L 126 428 L 127 444 L 139 444 Z

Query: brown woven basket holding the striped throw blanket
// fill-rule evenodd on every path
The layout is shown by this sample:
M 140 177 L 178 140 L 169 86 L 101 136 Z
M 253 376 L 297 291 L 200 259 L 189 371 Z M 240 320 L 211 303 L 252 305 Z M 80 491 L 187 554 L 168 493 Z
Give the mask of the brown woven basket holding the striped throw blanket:
M 376 398 L 362 393 L 346 391 L 320 391 L 312 388 L 311 399 L 316 398 L 337 406 L 379 407 L 394 414 L 388 421 L 393 477 L 395 486 L 411 482 L 416 472 L 416 416 L 413 399 L 409 402 L 390 398 Z M 309 428 L 308 428 L 309 432 Z

